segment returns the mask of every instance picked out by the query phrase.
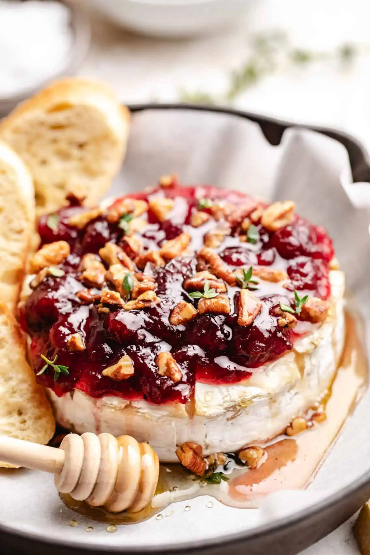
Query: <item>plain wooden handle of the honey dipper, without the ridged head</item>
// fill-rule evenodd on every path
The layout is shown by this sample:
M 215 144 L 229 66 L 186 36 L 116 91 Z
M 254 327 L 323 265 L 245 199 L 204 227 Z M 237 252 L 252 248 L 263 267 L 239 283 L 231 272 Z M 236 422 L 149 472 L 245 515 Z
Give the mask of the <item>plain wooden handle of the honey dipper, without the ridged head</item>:
M 64 451 L 31 441 L 0 436 L 0 461 L 54 474 L 62 471 Z

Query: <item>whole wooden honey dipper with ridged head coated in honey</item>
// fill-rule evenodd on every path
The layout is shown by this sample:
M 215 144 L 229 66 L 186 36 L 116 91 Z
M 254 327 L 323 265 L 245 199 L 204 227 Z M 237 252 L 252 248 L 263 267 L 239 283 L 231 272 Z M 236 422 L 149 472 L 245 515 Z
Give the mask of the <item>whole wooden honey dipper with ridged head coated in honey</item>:
M 59 492 L 115 513 L 146 507 L 159 477 L 158 455 L 149 443 L 110 433 L 69 433 L 59 449 L 0 436 L 0 460 L 51 472 Z

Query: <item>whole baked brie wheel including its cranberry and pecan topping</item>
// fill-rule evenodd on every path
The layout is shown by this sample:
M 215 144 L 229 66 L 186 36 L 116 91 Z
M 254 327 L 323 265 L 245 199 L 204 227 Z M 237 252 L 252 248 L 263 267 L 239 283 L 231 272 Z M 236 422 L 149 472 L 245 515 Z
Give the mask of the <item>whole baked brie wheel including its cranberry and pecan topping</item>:
M 344 338 L 325 229 L 211 186 L 158 188 L 39 223 L 21 307 L 60 425 L 149 441 L 161 461 L 270 440 L 320 401 Z

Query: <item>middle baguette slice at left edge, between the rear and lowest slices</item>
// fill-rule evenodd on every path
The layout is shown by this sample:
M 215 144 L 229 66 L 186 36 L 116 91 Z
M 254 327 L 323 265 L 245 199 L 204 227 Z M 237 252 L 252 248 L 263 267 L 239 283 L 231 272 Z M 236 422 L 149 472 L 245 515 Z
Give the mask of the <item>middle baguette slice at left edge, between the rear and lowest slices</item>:
M 34 189 L 21 158 L 0 143 L 0 299 L 15 312 L 33 238 Z

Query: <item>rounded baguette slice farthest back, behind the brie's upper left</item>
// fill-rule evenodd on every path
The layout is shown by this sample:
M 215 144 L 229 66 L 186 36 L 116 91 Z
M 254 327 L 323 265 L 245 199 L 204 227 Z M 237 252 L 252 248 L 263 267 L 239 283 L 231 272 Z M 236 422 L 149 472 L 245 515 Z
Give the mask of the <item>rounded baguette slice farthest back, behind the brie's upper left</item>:
M 107 191 L 123 161 L 129 110 L 106 85 L 62 79 L 19 104 L 0 123 L 0 138 L 31 171 L 37 215 L 85 196 L 94 205 Z

